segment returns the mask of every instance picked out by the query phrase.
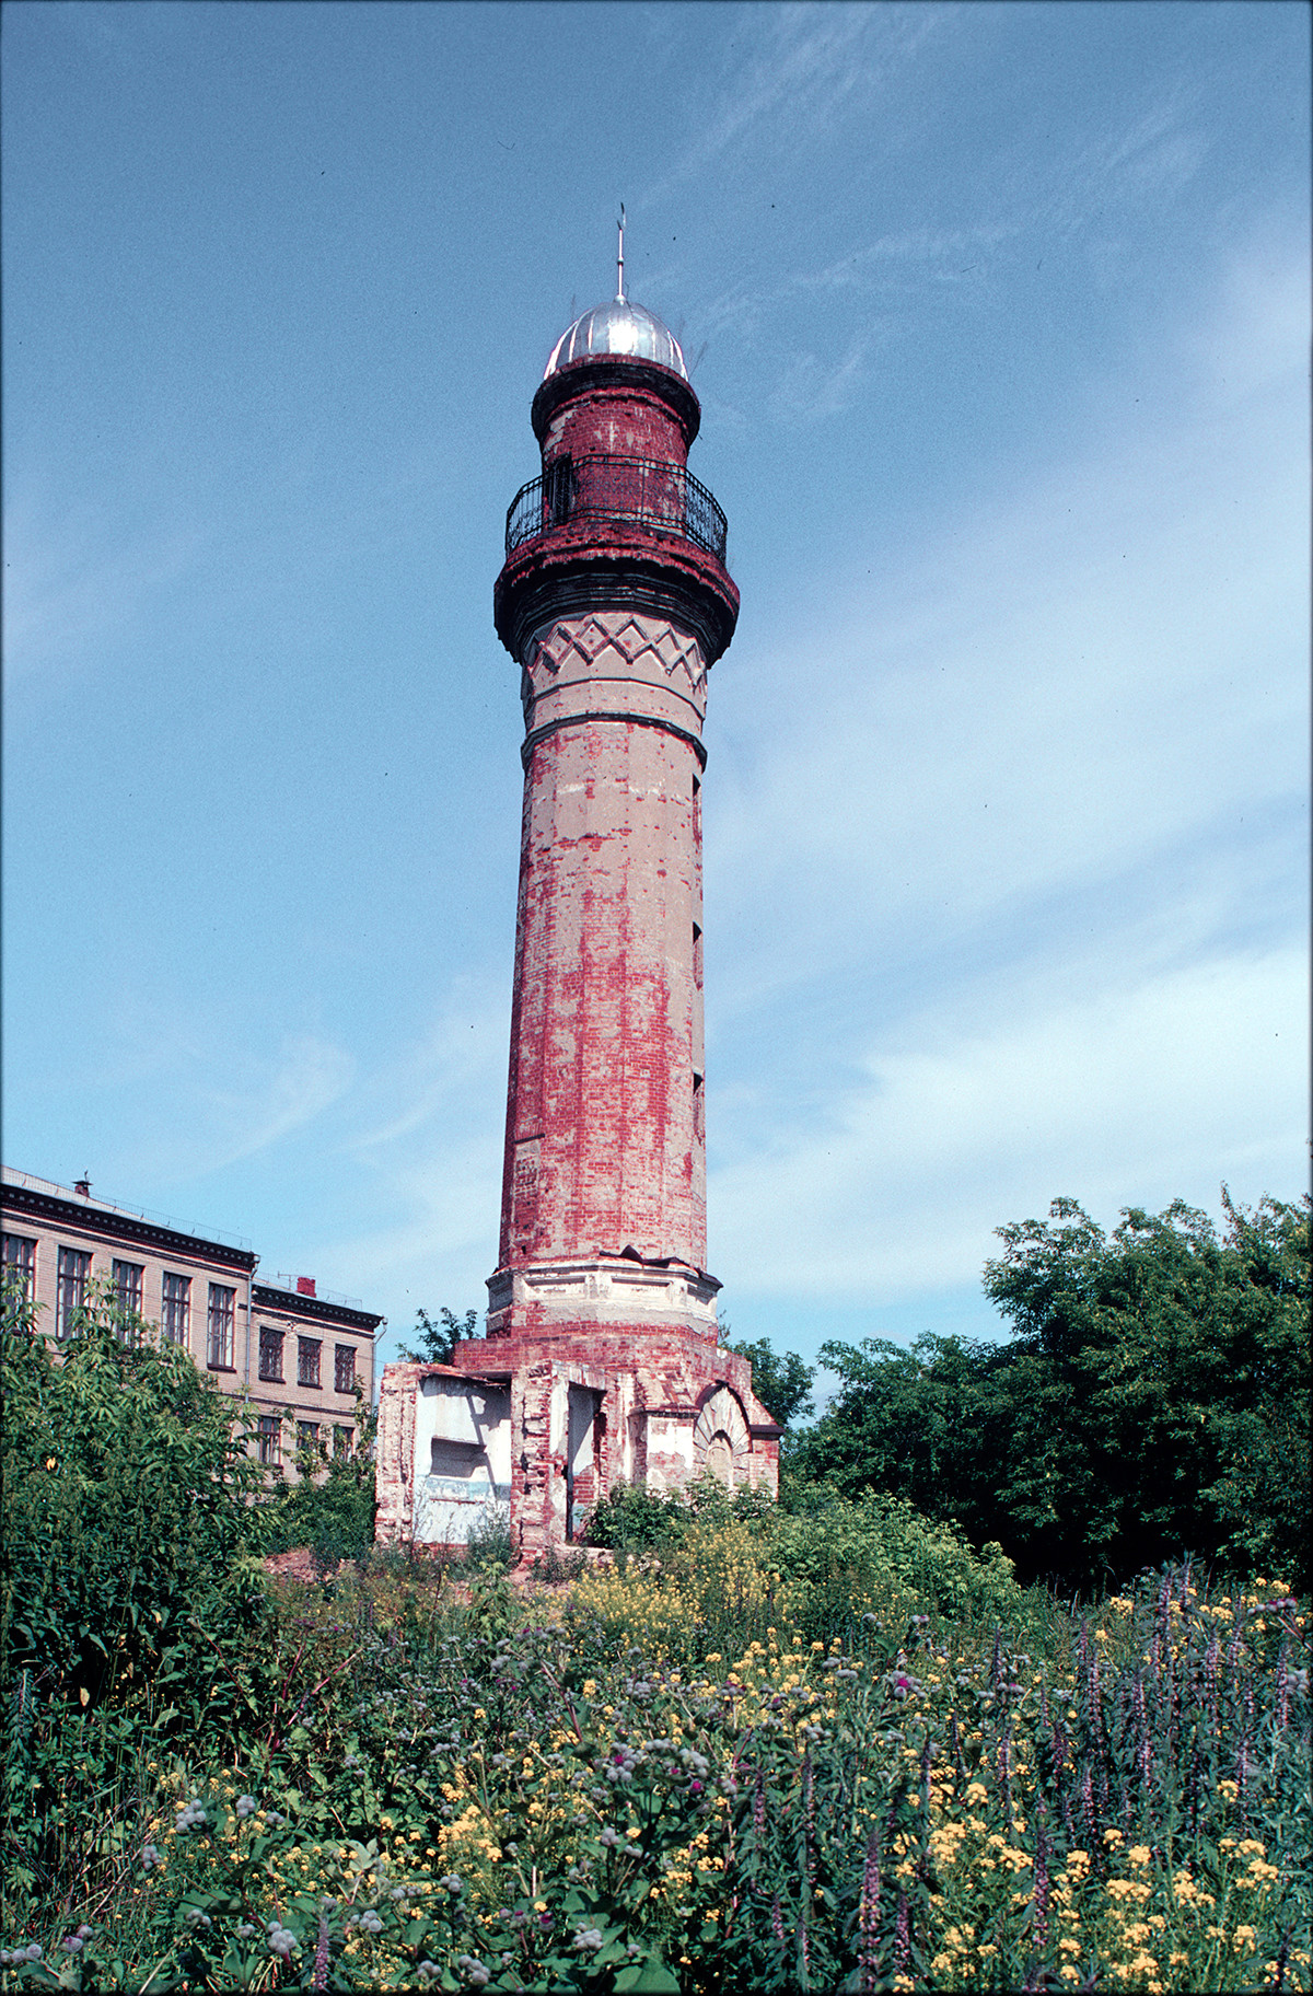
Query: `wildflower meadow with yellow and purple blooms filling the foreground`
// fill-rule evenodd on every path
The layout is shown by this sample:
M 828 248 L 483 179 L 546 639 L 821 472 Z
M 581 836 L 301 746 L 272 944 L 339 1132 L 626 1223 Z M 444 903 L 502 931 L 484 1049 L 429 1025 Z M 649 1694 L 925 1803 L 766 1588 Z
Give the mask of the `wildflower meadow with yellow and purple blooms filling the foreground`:
M 716 1529 L 686 1541 L 712 1563 Z M 730 1573 L 752 1535 L 722 1531 Z M 279 1589 L 269 1711 L 74 1784 L 96 1888 L 10 1902 L 2 1986 L 1309 1986 L 1289 1595 L 1177 1569 L 1044 1641 L 870 1611 L 690 1669 L 617 1653 L 599 1581 L 565 1625 L 493 1577 Z

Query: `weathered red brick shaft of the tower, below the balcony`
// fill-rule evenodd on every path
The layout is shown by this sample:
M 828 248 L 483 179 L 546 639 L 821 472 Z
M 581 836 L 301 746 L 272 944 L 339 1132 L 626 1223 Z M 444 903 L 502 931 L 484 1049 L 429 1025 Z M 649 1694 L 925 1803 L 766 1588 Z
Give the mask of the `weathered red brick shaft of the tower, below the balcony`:
M 625 665 L 615 643 L 597 643 L 597 619 L 587 625 L 593 663 Z M 629 635 L 637 649 L 643 633 Z M 561 651 L 577 685 L 585 673 L 599 685 L 579 645 Z M 684 741 L 629 721 L 563 727 L 533 748 L 503 1267 L 625 1248 L 706 1261 L 696 778 Z

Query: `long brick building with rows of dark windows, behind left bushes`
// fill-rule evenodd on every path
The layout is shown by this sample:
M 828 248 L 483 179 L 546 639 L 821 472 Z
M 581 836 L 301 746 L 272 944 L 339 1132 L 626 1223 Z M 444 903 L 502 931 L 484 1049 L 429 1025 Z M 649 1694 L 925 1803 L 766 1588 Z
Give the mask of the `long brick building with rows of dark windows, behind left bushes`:
M 317 1293 L 309 1275 L 257 1277 L 249 1242 L 96 1200 L 88 1180 L 56 1186 L 6 1166 L 0 1204 L 6 1273 L 24 1283 L 56 1345 L 104 1281 L 216 1385 L 249 1395 L 253 1445 L 269 1469 L 295 1473 L 303 1443 L 353 1445 L 357 1409 L 373 1405 L 381 1315 Z

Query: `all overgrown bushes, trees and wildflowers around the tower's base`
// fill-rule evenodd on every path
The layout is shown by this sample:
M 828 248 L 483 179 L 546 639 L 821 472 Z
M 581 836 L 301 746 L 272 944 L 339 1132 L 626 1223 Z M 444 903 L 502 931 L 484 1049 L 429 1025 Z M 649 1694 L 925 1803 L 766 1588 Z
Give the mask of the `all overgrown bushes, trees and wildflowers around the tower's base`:
M 1012 1230 L 992 1269 L 1052 1421 L 1066 1377 L 1105 1395 L 1095 1429 L 1121 1409 L 1113 1431 L 1167 1447 L 1171 1381 L 1229 1395 L 1195 1423 L 1211 1455 L 1163 1457 L 1171 1519 L 1189 1463 L 1221 1491 L 1201 1517 L 1223 1519 L 1239 1499 L 1215 1463 L 1265 1461 L 1253 1437 L 1239 1453 L 1235 1381 L 1187 1359 L 1203 1333 L 1185 1315 L 1191 1295 L 1213 1309 L 1269 1405 L 1291 1212 L 1267 1202 L 1241 1216 L 1257 1240 L 1209 1244 L 1179 1210 L 1103 1242 L 1066 1208 Z M 1155 1393 L 1117 1373 L 1133 1351 Z M 6 1988 L 1311 1986 L 1309 1621 L 1253 1551 L 1295 1509 L 1263 1509 L 1261 1477 L 1249 1537 L 1219 1529 L 1229 1579 L 1169 1545 L 1119 1591 L 1064 1601 L 1020 1585 L 984 1511 L 954 1525 L 934 1479 L 880 1487 L 896 1455 L 852 1437 L 884 1447 L 902 1419 L 916 1439 L 928 1405 L 958 1403 L 948 1371 L 918 1397 L 862 1353 L 876 1415 L 860 1427 L 850 1379 L 836 1473 L 794 1469 L 778 1507 L 714 1483 L 690 1503 L 615 1491 L 595 1517 L 609 1557 L 543 1563 L 555 1585 L 525 1593 L 509 1543 L 447 1569 L 379 1549 L 335 1567 L 361 1545 L 369 1465 L 251 1503 L 233 1403 L 106 1297 L 58 1363 L 10 1305 L 2 1357 Z M 1038 1415 L 1026 1433 L 1042 1445 Z M 1022 1443 L 976 1437 L 1008 1489 Z M 1076 1491 L 1111 1477 L 1095 1441 L 1084 1481 L 1064 1471 Z M 966 1457 L 942 1429 L 934 1445 L 944 1473 Z M 1074 1507 L 1082 1559 L 1145 1543 L 1137 1489 L 1127 1471 L 1111 1511 Z M 996 1517 L 1014 1543 L 1050 1529 L 1016 1495 Z M 319 1579 L 267 1579 L 255 1555 L 297 1535 Z

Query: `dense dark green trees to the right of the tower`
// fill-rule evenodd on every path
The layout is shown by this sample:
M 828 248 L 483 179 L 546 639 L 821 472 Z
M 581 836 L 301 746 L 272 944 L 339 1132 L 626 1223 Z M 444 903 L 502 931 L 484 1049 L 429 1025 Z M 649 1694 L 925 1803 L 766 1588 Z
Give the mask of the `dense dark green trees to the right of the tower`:
M 1024 1577 L 1097 1589 L 1193 1553 L 1309 1583 L 1309 1208 L 1179 1202 L 1111 1238 L 1074 1200 L 1002 1228 L 1008 1343 L 828 1343 L 844 1381 L 794 1469 L 882 1489 Z

